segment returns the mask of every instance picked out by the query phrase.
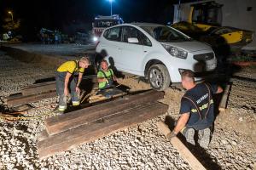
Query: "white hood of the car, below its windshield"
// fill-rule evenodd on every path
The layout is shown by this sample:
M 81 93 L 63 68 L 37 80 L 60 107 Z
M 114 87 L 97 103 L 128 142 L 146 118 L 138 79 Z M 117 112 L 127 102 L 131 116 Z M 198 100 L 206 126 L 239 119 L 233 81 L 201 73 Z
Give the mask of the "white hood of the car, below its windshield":
M 212 49 L 209 45 L 203 42 L 189 41 L 189 42 L 164 42 L 165 44 L 170 44 L 173 47 L 182 48 L 188 52 L 201 51 L 206 49 Z

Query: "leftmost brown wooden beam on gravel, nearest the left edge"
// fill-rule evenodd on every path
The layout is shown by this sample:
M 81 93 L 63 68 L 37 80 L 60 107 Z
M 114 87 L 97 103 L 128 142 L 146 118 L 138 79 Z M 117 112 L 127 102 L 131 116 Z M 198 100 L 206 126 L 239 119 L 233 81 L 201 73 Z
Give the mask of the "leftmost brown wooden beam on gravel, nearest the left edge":
M 49 93 L 44 93 L 44 94 L 34 94 L 34 95 L 29 95 L 29 96 L 10 96 L 6 100 L 6 104 L 9 107 L 14 107 L 17 105 L 24 105 L 28 103 L 32 103 L 35 101 L 38 101 L 40 99 L 45 99 L 45 98 L 53 98 L 56 96 L 56 92 L 49 92 Z

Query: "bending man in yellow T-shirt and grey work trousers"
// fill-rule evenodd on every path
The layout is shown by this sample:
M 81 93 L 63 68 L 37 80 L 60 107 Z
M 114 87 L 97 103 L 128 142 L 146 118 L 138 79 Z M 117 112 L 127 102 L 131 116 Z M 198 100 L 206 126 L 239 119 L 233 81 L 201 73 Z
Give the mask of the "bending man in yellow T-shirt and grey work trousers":
M 82 57 L 79 60 L 67 61 L 63 63 L 56 71 L 56 91 L 59 96 L 59 111 L 64 112 L 67 109 L 67 95 L 69 89 L 73 105 L 79 105 L 80 82 L 82 80 L 84 69 L 90 65 L 88 57 Z M 79 73 L 79 79 L 74 74 Z

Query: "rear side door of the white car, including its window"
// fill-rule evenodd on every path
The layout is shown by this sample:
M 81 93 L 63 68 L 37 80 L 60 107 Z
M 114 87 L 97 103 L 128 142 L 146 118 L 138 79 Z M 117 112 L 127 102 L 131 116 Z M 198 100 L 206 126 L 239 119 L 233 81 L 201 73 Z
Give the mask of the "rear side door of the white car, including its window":
M 121 26 L 110 28 L 106 35 L 103 35 L 107 41 L 102 44 L 102 49 L 106 50 L 104 55 L 107 56 L 108 63 L 118 70 L 121 68 L 118 62 L 121 57 L 121 31 Z

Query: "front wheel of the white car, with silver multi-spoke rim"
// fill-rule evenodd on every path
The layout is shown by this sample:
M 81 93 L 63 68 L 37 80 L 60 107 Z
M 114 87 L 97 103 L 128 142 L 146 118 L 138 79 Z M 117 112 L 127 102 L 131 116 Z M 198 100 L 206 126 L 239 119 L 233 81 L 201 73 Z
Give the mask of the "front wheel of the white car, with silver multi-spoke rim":
M 163 91 L 170 86 L 171 78 L 165 65 L 151 65 L 148 69 L 148 82 L 151 87 Z

